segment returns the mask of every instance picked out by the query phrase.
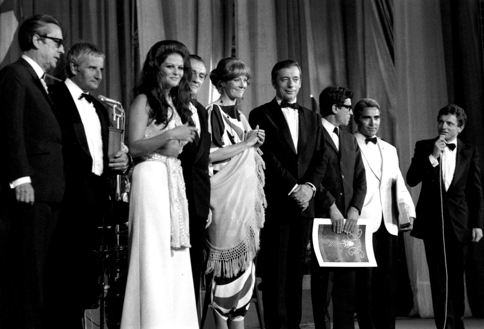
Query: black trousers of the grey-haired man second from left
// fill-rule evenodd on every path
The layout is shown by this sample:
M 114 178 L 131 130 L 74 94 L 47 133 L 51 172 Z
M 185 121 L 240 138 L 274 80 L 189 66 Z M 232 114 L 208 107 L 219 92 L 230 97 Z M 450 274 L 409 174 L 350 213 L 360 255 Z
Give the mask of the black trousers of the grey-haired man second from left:
M 86 175 L 73 191 L 68 185 L 53 237 L 51 263 L 55 274 L 47 284 L 46 296 L 55 305 L 47 310 L 53 321 L 50 328 L 82 328 L 84 310 L 97 300 L 101 286 L 100 229 L 108 216 L 106 178 Z M 69 284 L 61 284 L 69 282 Z

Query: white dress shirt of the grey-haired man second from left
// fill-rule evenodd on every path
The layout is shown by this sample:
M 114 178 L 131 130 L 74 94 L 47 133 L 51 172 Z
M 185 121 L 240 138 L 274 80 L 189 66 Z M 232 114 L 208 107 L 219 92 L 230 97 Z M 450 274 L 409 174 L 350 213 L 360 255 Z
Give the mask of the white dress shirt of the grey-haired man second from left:
M 70 91 L 77 111 L 81 117 L 84 126 L 84 132 L 88 141 L 89 152 L 92 158 L 92 173 L 101 176 L 103 173 L 103 138 L 101 136 L 101 122 L 96 113 L 94 105 L 89 103 L 86 98 L 79 99 L 83 91 L 71 79 L 64 81 L 67 89 Z M 62 110 L 62 109 L 60 109 Z

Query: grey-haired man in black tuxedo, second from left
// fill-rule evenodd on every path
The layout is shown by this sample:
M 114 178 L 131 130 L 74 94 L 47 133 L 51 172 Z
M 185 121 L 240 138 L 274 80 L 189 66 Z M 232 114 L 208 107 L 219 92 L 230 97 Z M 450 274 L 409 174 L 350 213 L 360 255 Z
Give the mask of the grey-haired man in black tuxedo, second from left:
M 67 79 L 49 87 L 62 113 L 66 164 L 66 194 L 54 237 L 56 256 L 60 257 L 56 260 L 63 262 L 70 280 L 76 282 L 65 285 L 56 298 L 63 300 L 55 310 L 64 316 L 66 328 L 81 328 L 90 293 L 97 295 L 99 274 L 91 254 L 99 250 L 97 227 L 109 215 L 108 178 L 121 174 L 130 160 L 122 150 L 109 159 L 107 110 L 89 93 L 99 87 L 104 59 L 104 53 L 95 45 L 73 45 L 66 56 Z M 69 246 L 67 252 L 65 246 Z

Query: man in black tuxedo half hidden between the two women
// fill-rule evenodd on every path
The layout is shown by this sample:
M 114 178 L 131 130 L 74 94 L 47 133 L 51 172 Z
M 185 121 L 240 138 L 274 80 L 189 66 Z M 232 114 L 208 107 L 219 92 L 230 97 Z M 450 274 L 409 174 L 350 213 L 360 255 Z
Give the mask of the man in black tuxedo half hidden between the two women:
M 193 284 L 197 302 L 200 298 L 200 274 L 203 262 L 203 235 L 210 209 L 210 176 L 209 154 L 210 133 L 208 130 L 207 110 L 197 102 L 197 93 L 207 76 L 205 62 L 197 55 L 190 55 L 192 66 L 192 81 L 190 83 L 193 102 L 196 110 L 191 120 L 197 127 L 197 133 L 192 143 L 183 148 L 178 156 L 183 168 L 188 213 L 190 218 L 190 261 L 192 263 Z

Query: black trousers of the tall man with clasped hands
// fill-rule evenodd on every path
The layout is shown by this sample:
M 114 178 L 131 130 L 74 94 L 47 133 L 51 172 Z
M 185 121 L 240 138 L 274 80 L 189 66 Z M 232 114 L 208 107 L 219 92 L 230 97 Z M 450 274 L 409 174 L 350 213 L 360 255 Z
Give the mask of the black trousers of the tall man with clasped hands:
M 261 230 L 264 253 L 262 300 L 270 329 L 299 329 L 302 314 L 302 264 L 311 218 L 266 217 Z

